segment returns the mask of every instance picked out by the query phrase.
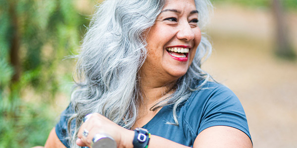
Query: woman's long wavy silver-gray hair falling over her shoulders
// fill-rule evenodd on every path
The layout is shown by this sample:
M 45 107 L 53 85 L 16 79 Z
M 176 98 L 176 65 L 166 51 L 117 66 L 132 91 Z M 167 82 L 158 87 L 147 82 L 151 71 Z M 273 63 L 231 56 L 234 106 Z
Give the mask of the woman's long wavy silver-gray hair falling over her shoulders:
M 68 120 L 68 137 L 72 147 L 82 123 L 82 118 L 99 112 L 111 121 L 130 129 L 143 102 L 139 88 L 138 72 L 146 60 L 146 38 L 149 29 L 161 12 L 166 0 L 106 0 L 97 6 L 91 24 L 82 41 L 71 94 L 71 106 L 75 113 Z M 208 19 L 211 3 L 195 0 L 198 10 L 198 26 L 203 28 Z M 195 58 L 187 73 L 180 77 L 175 92 L 157 103 L 151 110 L 173 104 L 173 117 L 178 125 L 178 105 L 199 89 L 209 74 L 200 68 L 201 60 L 211 53 L 211 44 L 202 33 Z M 200 81 L 199 85 L 197 82 Z M 71 121 L 75 120 L 75 126 Z

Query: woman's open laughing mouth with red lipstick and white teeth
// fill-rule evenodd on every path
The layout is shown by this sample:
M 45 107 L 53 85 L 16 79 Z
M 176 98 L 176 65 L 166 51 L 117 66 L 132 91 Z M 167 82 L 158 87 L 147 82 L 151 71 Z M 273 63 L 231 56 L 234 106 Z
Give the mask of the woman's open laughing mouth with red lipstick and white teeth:
M 188 61 L 188 54 L 189 54 L 189 48 L 183 48 L 183 47 L 168 47 L 166 48 L 167 52 L 171 57 L 175 60 L 185 62 Z

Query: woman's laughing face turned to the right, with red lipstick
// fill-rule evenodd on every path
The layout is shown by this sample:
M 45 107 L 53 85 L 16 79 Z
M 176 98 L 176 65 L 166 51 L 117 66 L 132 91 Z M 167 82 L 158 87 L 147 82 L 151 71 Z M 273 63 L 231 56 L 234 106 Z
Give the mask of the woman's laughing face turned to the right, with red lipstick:
M 201 40 L 194 0 L 167 0 L 146 39 L 143 73 L 165 79 L 186 74 Z

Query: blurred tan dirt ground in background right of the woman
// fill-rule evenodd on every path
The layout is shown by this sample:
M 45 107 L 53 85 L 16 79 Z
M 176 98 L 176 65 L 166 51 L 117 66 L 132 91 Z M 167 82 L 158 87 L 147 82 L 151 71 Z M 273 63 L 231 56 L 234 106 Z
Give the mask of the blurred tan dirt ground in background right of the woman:
M 203 68 L 240 98 L 254 148 L 297 148 L 297 61 L 273 54 L 271 13 L 215 7 L 208 28 L 215 51 Z M 288 18 L 296 50 L 297 15 Z

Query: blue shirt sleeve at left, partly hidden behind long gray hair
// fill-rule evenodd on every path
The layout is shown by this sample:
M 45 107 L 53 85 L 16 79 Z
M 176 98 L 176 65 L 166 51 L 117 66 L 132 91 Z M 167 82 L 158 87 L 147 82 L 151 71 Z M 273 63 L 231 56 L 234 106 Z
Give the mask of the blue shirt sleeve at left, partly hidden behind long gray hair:
M 73 114 L 73 110 L 71 108 L 71 105 L 67 107 L 66 110 L 64 110 L 60 115 L 60 120 L 55 126 L 55 132 L 57 134 L 57 137 L 59 140 L 63 143 L 63 145 L 66 148 L 70 148 L 69 146 L 69 136 L 68 136 L 68 129 L 67 129 L 67 123 L 71 115 Z

